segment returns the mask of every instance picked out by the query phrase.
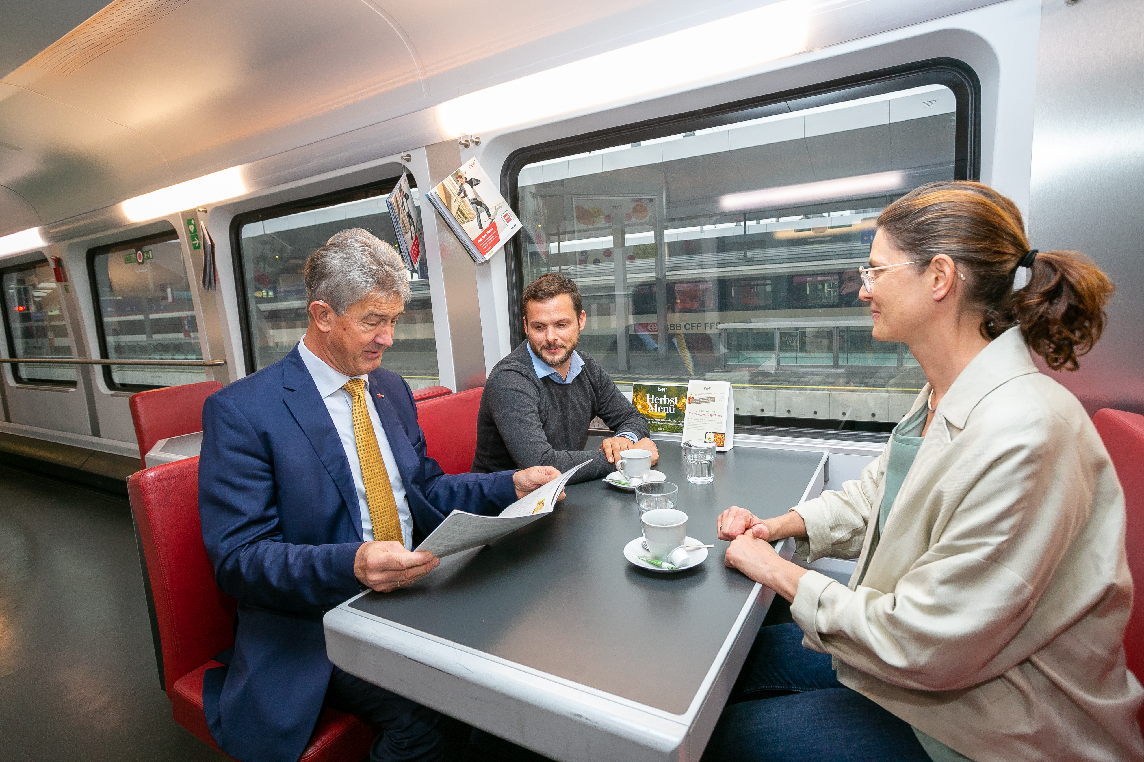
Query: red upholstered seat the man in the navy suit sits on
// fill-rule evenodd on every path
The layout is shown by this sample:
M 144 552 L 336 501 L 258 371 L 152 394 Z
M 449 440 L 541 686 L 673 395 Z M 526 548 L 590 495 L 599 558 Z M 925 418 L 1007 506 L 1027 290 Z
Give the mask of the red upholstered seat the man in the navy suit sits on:
M 154 601 L 164 690 L 175 721 L 217 749 L 202 714 L 202 675 L 221 666 L 212 657 L 233 645 L 236 603 L 215 584 L 202 545 L 198 474 L 199 459 L 188 458 L 136 472 L 127 489 Z M 371 743 L 367 724 L 326 707 L 301 759 L 359 762 Z

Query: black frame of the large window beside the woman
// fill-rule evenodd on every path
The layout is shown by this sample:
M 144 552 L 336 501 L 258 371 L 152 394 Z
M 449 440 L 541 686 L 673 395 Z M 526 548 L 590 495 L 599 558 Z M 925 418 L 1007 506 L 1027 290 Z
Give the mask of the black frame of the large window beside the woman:
M 521 208 L 517 181 L 530 163 L 561 157 L 598 151 L 625 143 L 639 143 L 680 135 L 709 127 L 720 127 L 803 109 L 824 106 L 873 95 L 883 95 L 923 85 L 944 85 L 956 101 L 954 118 L 954 179 L 980 179 L 982 86 L 974 69 L 956 58 L 929 58 L 899 66 L 855 74 L 808 87 L 771 93 L 753 98 L 683 112 L 661 119 L 621 125 L 593 133 L 557 138 L 517 149 L 508 155 L 501 169 L 501 192 L 513 209 Z M 521 294 L 524 290 L 524 238 L 515 235 L 506 247 L 509 294 L 509 342 L 517 346 L 524 340 L 524 315 Z M 793 419 L 794 420 L 794 419 Z M 821 422 L 832 424 L 835 422 Z M 831 427 L 736 425 L 737 433 L 821 438 L 855 441 L 885 441 L 889 434 L 863 431 L 839 431 Z

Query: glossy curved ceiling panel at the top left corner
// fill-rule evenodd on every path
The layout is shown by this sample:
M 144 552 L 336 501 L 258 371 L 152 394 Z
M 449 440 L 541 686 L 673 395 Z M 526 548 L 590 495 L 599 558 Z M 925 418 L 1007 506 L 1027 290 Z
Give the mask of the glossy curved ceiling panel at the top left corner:
M 292 129 L 325 114 L 345 131 L 378 121 L 379 101 L 391 111 L 423 96 L 405 43 L 360 0 L 162 1 L 169 10 L 137 30 L 112 3 L 90 24 L 103 29 L 61 40 L 74 62 L 49 49 L 6 81 L 145 136 L 176 179 L 293 147 L 280 134 L 325 137 Z M 124 2 L 156 14 L 159 0 Z

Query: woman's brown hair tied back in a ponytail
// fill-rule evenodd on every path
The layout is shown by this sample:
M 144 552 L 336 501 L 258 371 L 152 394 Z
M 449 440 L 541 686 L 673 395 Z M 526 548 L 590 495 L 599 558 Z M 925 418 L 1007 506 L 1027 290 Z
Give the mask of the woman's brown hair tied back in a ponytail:
M 1077 359 L 1104 331 L 1114 288 L 1109 276 L 1077 251 L 1030 251 L 1017 206 L 987 185 L 922 185 L 887 207 L 877 225 L 919 268 L 945 254 L 966 272 L 966 306 L 982 312 L 985 338 L 1019 323 L 1049 368 L 1077 370 Z M 1015 290 L 1014 278 L 1030 259 L 1028 281 Z

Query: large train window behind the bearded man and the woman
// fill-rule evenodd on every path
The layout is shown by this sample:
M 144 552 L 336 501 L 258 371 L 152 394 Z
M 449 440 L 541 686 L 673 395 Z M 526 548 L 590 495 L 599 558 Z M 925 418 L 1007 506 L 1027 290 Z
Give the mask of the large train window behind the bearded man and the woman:
M 726 379 L 740 425 L 889 431 L 925 379 L 873 338 L 858 266 L 887 204 L 974 176 L 975 93 L 914 70 L 526 149 L 510 278 L 575 280 L 580 347 L 621 388 Z

